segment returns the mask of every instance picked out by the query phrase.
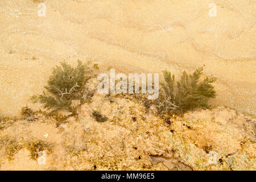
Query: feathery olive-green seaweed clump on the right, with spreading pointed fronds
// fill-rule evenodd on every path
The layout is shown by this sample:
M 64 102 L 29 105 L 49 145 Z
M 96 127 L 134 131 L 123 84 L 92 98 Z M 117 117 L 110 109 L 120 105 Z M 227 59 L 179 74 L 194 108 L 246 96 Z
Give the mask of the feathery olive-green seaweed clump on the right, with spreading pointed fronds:
M 199 107 L 209 108 L 209 98 L 216 97 L 216 91 L 212 85 L 216 78 L 205 77 L 203 81 L 199 81 L 202 74 L 202 67 L 196 69 L 192 75 L 184 71 L 175 87 L 175 76 L 170 71 L 163 71 L 165 82 L 161 83 L 162 92 L 156 100 L 158 113 L 160 115 L 174 111 L 183 113 Z

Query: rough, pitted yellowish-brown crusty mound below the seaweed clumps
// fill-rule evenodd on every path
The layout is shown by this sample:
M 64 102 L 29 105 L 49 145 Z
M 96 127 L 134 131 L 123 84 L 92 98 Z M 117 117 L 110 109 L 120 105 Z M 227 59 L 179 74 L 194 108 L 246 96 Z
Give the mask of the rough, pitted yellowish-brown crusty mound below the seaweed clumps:
M 87 86 L 97 84 L 94 79 Z M 97 122 L 94 110 L 108 121 Z M 0 170 L 256 169 L 256 120 L 231 109 L 197 110 L 168 124 L 155 115 L 154 106 L 145 110 L 133 97 L 95 93 L 77 111 L 77 118 L 59 127 L 55 119 L 38 114 L 35 121 L 19 120 L 1 130 Z M 21 147 L 13 160 L 4 139 Z M 44 150 L 45 164 L 30 159 L 27 142 L 36 140 L 53 146 L 52 153 Z

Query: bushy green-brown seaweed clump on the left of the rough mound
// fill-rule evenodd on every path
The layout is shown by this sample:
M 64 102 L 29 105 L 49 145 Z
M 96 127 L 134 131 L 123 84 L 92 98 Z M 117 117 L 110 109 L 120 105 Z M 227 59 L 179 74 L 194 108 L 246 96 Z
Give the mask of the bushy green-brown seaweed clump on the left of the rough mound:
M 72 101 L 84 101 L 83 88 L 90 78 L 90 76 L 85 76 L 87 72 L 90 72 L 90 68 L 81 61 L 78 61 L 76 68 L 63 62 L 61 67 L 53 68 L 48 85 L 44 87 L 47 93 L 32 96 L 31 99 L 39 100 L 47 109 L 53 109 L 53 111 L 64 109 L 73 113 Z

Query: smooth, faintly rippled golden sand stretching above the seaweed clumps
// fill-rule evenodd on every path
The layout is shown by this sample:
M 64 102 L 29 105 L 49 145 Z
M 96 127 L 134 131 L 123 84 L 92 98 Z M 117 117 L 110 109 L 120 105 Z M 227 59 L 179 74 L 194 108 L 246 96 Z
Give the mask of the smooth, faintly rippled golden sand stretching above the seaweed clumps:
M 214 105 L 255 115 L 255 1 L 32 0 L 0 2 L 0 111 L 18 115 L 60 61 L 97 60 L 102 72 L 179 75 L 205 65 Z M 210 17 L 209 3 L 217 16 Z M 36 59 L 35 59 L 36 58 Z

